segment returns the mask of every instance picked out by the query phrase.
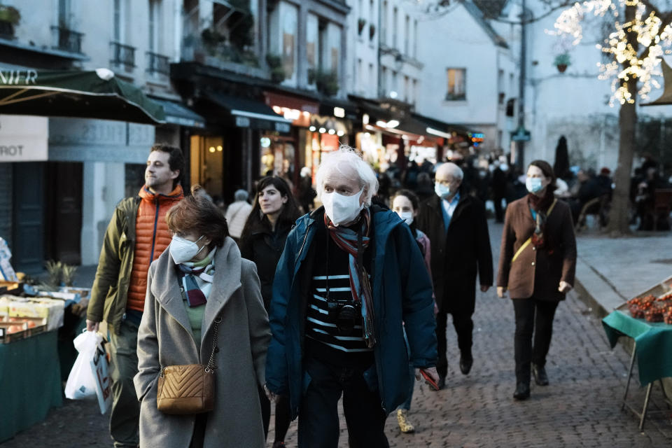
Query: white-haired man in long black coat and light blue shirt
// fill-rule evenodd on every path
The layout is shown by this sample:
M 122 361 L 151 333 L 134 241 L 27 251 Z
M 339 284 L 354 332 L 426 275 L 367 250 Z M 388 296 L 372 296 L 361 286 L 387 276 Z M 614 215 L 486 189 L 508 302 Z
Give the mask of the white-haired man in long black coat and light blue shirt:
M 434 293 L 439 312 L 436 337 L 439 356 L 439 386 L 448 374 L 446 329 L 452 315 L 460 349 L 460 370 L 468 374 L 473 364 L 471 351 L 476 302 L 476 274 L 482 292 L 492 286 L 492 252 L 484 204 L 461 190 L 463 172 L 454 163 L 436 170 L 435 195 L 420 204 L 417 228 L 430 240 Z

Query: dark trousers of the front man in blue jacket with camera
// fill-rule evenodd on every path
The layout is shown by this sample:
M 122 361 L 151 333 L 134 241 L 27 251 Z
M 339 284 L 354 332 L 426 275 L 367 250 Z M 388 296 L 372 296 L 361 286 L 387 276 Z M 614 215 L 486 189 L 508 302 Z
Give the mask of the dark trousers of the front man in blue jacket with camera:
M 328 365 L 314 358 L 304 360 L 310 383 L 299 409 L 299 448 L 337 448 L 338 400 L 351 448 L 387 448 L 386 414 L 380 395 L 371 391 L 363 377 L 366 369 Z M 368 367 L 367 367 L 368 368 Z

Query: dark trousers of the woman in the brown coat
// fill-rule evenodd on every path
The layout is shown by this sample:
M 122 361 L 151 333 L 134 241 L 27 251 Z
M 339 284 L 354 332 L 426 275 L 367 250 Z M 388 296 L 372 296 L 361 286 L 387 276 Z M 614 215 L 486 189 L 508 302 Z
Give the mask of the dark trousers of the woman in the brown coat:
M 516 358 L 516 381 L 530 382 L 530 363 L 539 367 L 546 365 L 546 355 L 553 335 L 553 317 L 558 302 L 547 300 L 514 299 L 516 333 L 514 350 Z M 534 344 L 532 338 L 534 335 Z

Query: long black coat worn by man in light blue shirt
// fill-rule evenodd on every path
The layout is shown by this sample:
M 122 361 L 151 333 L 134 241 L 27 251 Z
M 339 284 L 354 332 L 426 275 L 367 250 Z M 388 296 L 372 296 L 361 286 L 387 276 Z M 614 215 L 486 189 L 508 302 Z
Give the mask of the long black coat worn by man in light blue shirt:
M 460 195 L 448 231 L 437 195 L 420 204 L 415 222 L 429 237 L 432 248 L 432 280 L 439 311 L 472 314 L 476 274 L 480 284 L 492 285 L 492 252 L 483 203 L 464 189 Z

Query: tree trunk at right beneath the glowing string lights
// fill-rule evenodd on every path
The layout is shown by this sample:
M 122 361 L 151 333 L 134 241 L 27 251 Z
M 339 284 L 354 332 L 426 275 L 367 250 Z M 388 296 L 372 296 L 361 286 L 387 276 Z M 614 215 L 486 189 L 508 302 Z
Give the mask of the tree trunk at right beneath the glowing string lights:
M 636 6 L 626 6 L 626 22 L 634 20 L 635 13 Z M 628 42 L 633 46 L 634 50 L 638 49 L 635 32 L 631 31 L 629 33 Z M 624 62 L 624 68 L 628 64 L 628 61 Z M 623 83 L 628 87 L 631 98 L 636 99 L 637 79 L 630 78 L 627 81 L 623 81 Z M 637 127 L 637 109 L 635 108 L 635 103 L 622 104 L 618 114 L 618 127 L 618 166 L 614 174 L 615 189 L 609 212 L 609 225 L 607 227 L 607 231 L 612 237 L 619 237 L 630 233 L 630 173 L 632 171 L 632 158 L 635 152 L 635 131 Z

